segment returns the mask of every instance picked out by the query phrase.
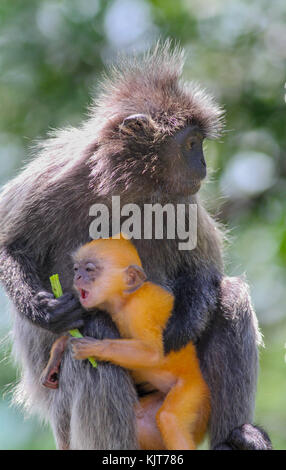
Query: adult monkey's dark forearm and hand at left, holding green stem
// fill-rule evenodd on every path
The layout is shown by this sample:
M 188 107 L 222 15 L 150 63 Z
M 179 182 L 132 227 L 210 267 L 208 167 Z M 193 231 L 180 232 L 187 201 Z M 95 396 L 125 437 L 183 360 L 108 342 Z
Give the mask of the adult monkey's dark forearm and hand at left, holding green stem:
M 54 333 L 83 326 L 84 313 L 78 299 L 66 293 L 55 299 L 43 291 L 37 265 L 20 244 L 0 249 L 0 281 L 18 311 L 34 324 Z

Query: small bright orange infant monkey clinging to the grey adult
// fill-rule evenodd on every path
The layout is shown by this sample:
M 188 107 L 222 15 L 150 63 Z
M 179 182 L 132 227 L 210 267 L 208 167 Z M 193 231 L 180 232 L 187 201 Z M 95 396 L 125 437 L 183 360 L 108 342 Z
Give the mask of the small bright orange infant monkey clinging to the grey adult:
M 81 304 L 107 311 L 122 338 L 72 339 L 74 357 L 118 364 L 132 372 L 136 383 L 147 382 L 158 390 L 141 398 L 136 409 L 141 448 L 195 449 L 206 432 L 210 395 L 192 343 L 164 354 L 162 333 L 173 295 L 147 280 L 136 248 L 122 235 L 83 245 L 74 261 Z M 53 377 L 66 342 L 67 336 L 56 341 L 44 372 L 51 388 L 57 386 Z

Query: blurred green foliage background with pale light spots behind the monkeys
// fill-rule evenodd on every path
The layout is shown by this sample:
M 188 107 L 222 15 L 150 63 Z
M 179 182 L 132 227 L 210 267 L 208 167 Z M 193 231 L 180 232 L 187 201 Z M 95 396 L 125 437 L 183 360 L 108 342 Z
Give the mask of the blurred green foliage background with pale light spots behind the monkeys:
M 167 36 L 186 49 L 184 77 L 227 111 L 223 139 L 207 144 L 204 197 L 230 229 L 227 271 L 246 272 L 264 333 L 256 421 L 286 449 L 285 0 L 1 0 L 0 183 L 35 138 L 80 122 L 118 51 L 139 53 Z M 49 430 L 9 407 L 17 374 L 4 343 L 0 448 L 52 449 Z

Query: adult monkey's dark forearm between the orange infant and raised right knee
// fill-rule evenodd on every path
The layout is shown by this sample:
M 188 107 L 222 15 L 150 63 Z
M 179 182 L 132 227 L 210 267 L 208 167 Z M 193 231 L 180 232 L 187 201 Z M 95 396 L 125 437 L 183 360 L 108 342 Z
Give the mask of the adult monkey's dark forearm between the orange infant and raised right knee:
M 221 275 L 217 271 L 181 271 L 174 282 L 175 303 L 163 333 L 165 353 L 196 343 L 217 307 Z

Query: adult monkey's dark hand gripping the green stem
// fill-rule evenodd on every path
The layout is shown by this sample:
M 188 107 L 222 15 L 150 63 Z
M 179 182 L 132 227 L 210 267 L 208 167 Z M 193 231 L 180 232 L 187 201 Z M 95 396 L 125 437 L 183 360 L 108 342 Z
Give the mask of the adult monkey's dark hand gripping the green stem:
M 39 325 L 53 333 L 81 328 L 84 324 L 83 316 L 86 311 L 71 292 L 58 299 L 55 299 L 50 292 L 38 292 L 32 303 L 40 312 Z

